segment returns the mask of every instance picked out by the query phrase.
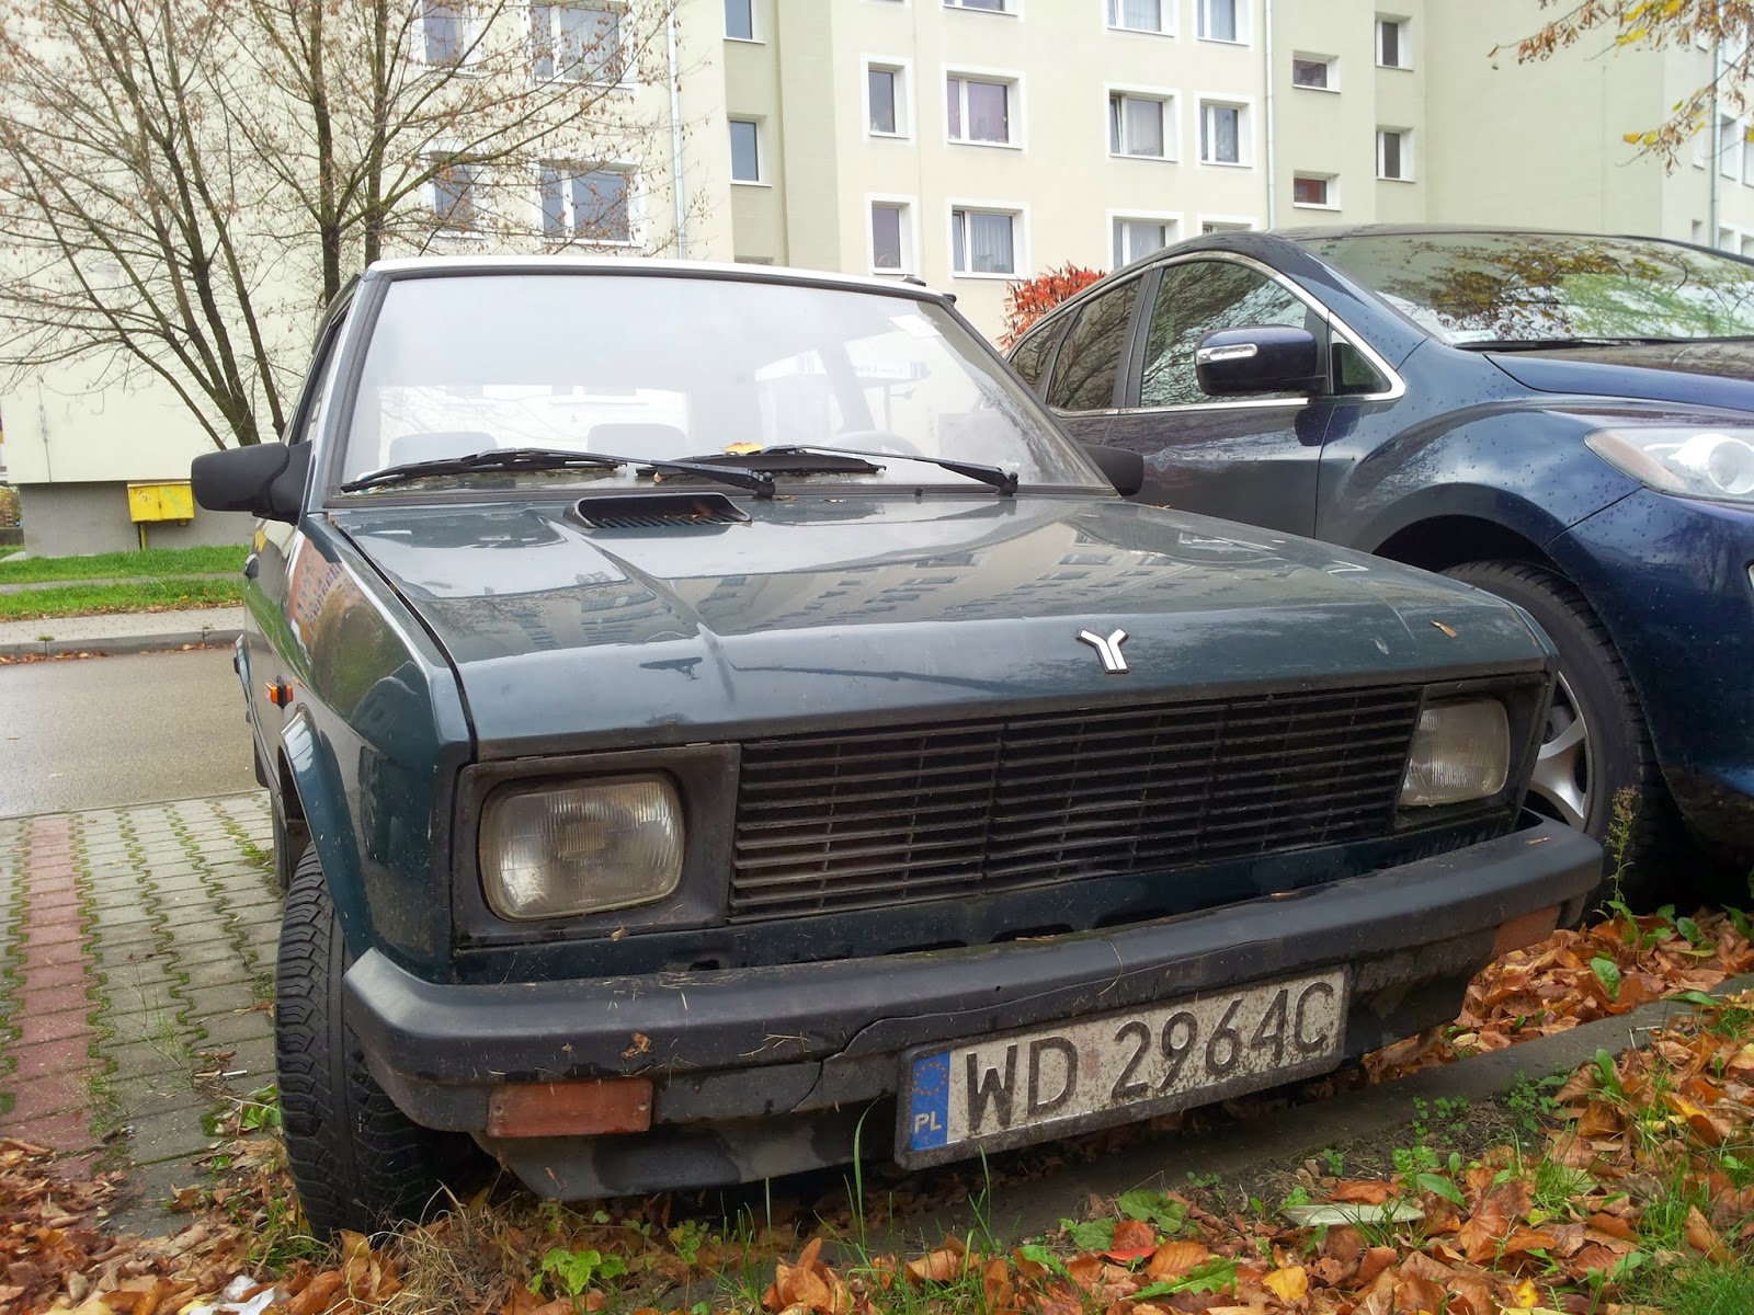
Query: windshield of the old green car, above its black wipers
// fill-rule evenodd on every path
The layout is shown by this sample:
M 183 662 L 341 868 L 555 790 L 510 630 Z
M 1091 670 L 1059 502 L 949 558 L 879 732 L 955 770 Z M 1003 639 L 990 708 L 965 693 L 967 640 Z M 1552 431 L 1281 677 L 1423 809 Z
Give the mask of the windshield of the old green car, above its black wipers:
M 942 307 L 759 279 L 602 272 L 393 279 L 372 326 L 346 444 L 342 482 L 496 449 L 638 463 L 824 445 L 886 456 L 782 473 L 781 489 L 802 479 L 849 489 L 979 487 L 903 459 L 910 454 L 1002 466 L 1023 484 L 1107 487 Z M 453 470 L 424 477 L 419 487 L 619 489 L 649 487 L 652 477 L 638 465 Z M 398 487 L 409 484 L 360 496 Z

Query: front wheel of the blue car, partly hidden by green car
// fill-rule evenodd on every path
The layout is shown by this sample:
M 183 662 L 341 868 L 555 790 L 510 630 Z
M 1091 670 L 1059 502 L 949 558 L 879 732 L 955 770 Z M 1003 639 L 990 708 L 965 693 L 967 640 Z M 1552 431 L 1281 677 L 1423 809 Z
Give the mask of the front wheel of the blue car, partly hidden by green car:
M 1628 899 L 1654 894 L 1665 842 L 1673 835 L 1673 803 L 1651 747 L 1638 691 L 1614 640 L 1577 587 L 1554 570 L 1526 561 L 1470 561 L 1444 572 L 1524 608 L 1559 650 L 1559 682 L 1542 736 L 1528 807 L 1577 826 L 1608 849 L 1614 800 L 1633 791 L 1635 812 L 1621 856 Z M 1614 894 L 1608 854 L 1600 894 Z

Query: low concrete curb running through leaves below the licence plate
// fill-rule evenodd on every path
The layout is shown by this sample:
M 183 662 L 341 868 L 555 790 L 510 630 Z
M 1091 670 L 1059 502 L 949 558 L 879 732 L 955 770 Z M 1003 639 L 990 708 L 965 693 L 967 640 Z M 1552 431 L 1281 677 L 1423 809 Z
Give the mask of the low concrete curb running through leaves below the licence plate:
M 1721 982 L 1712 996 L 1733 996 L 1754 989 L 1754 975 Z M 1489 1101 L 1508 1092 L 1519 1078 L 1540 1080 L 1570 1073 L 1596 1050 L 1621 1054 L 1643 1047 L 1649 1033 L 1668 1019 L 1691 1013 L 1693 1005 L 1658 999 L 1614 1019 L 1586 1022 L 1552 1036 L 1428 1068 L 1421 1073 L 1363 1087 L 1326 1101 L 1312 1101 L 1275 1113 L 1272 1120 L 1240 1122 L 1216 1133 L 1166 1138 L 1144 1147 L 1124 1162 L 1103 1161 L 1073 1164 L 1026 1184 L 1005 1187 L 986 1203 L 984 1226 L 1002 1241 L 1040 1236 L 1075 1213 L 1091 1194 L 1114 1198 L 1135 1187 L 1175 1189 L 1196 1176 L 1238 1173 L 1270 1164 L 1293 1168 L 1323 1147 L 1379 1136 L 1405 1126 L 1414 1117 L 1414 1101 L 1466 1099 Z M 1144 1161 L 1144 1162 L 1142 1162 Z M 872 1254 L 903 1252 L 919 1245 L 937 1245 L 945 1236 L 968 1234 L 977 1224 L 968 1203 L 937 1210 L 891 1233 L 873 1233 L 866 1240 Z

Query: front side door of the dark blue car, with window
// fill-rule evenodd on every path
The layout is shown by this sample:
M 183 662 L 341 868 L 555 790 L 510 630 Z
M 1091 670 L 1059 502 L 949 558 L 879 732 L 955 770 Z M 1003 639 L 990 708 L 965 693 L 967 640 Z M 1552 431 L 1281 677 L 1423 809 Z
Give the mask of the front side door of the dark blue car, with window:
M 1323 310 L 1266 267 L 1231 256 L 1163 265 L 1147 289 L 1110 447 L 1145 458 L 1138 501 L 1308 535 L 1331 405 L 1296 394 L 1214 398 L 1194 351 L 1219 330 L 1307 328 L 1326 356 Z M 1070 347 L 1070 340 L 1066 347 Z M 1066 349 L 1059 352 L 1061 359 Z

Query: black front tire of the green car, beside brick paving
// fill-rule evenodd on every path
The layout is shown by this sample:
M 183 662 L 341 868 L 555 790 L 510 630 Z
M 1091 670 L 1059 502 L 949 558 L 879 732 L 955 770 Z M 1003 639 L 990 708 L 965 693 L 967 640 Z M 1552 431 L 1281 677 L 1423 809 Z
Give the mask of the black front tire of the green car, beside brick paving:
M 419 1219 L 442 1182 L 467 1185 L 484 1159 L 458 1133 L 410 1120 L 365 1066 L 347 1027 L 349 954 L 316 847 L 293 868 L 274 987 L 286 1161 L 310 1231 L 374 1233 Z

